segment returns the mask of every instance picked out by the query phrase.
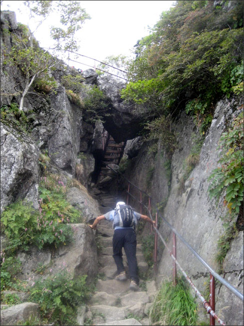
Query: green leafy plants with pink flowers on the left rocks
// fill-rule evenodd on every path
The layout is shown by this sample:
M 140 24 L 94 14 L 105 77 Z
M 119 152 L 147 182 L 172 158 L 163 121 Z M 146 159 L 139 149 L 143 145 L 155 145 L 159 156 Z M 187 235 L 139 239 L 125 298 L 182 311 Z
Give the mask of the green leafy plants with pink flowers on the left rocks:
M 45 245 L 56 248 L 72 240 L 69 223 L 82 222 L 81 213 L 65 200 L 66 187 L 52 177 L 44 177 L 40 183 L 39 211 L 21 201 L 11 204 L 2 214 L 2 230 L 9 239 L 6 252 L 28 250 L 31 244 L 39 249 Z

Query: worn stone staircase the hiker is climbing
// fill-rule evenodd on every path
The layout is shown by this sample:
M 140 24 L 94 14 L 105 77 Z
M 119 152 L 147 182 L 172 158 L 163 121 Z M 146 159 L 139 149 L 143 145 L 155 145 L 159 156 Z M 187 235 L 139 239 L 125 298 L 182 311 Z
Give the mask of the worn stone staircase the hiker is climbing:
M 116 198 L 93 191 L 93 197 L 99 198 L 101 214 L 116 206 Z M 91 325 L 149 325 L 148 313 L 156 293 L 155 281 L 140 280 L 140 290 L 129 289 L 130 281 L 117 281 L 117 268 L 113 259 L 112 222 L 102 220 L 97 226 L 99 277 L 96 289 L 87 305 L 86 324 Z M 137 263 L 139 276 L 145 275 L 148 265 L 144 260 L 142 246 L 137 245 Z M 126 255 L 123 251 L 124 266 L 128 275 Z

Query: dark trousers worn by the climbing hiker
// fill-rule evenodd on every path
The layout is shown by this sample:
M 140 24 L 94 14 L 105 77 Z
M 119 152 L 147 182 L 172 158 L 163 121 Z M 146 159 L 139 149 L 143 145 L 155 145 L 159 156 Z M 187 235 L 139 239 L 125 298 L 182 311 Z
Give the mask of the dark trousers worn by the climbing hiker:
M 121 273 L 125 270 L 122 258 L 123 247 L 128 261 L 130 279 L 139 284 L 136 261 L 136 233 L 134 229 L 117 229 L 114 231 L 113 257 L 117 266 L 118 273 Z

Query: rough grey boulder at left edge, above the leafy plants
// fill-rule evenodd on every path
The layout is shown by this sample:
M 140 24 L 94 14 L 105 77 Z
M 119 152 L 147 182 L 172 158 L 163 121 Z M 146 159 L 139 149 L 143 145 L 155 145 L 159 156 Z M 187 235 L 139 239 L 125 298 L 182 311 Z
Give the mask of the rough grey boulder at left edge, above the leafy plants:
M 38 208 L 39 150 L 17 125 L 1 123 L 1 212 L 26 198 Z

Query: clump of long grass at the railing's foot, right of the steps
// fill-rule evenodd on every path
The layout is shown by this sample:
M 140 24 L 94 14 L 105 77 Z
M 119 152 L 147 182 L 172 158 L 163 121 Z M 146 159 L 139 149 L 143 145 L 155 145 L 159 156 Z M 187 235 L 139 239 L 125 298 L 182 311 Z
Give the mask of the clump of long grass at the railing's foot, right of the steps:
M 153 325 L 196 325 L 197 305 L 183 280 L 176 286 L 162 282 L 152 308 L 150 319 Z

